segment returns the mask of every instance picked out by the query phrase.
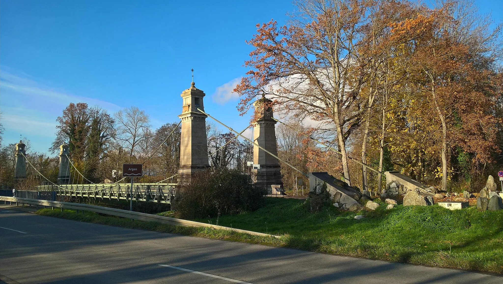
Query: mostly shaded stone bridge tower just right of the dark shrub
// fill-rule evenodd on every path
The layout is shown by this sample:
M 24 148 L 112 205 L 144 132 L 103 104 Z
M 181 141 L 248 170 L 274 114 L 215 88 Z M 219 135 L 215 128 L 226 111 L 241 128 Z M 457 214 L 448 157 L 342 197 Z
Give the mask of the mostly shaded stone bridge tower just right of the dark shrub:
M 273 119 L 271 103 L 272 101 L 264 95 L 262 95 L 262 99 L 254 103 L 255 117 L 257 118 L 254 124 L 254 142 L 278 156 L 276 120 Z M 283 187 L 283 182 L 281 181 L 281 168 L 278 159 L 254 145 L 253 162 L 260 165 L 260 169 L 253 170 L 257 184 L 264 185 L 269 194 L 282 191 L 282 189 L 279 190 Z

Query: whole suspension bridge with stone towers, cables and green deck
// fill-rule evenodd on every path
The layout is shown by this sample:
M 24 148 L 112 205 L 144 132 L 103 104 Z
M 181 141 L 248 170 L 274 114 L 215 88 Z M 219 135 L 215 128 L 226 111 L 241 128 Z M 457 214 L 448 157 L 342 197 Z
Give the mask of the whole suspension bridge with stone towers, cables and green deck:
M 216 154 L 228 143 L 238 137 L 241 137 L 253 144 L 253 164 L 258 165 L 258 167 L 254 167 L 253 169 L 254 181 L 258 185 L 265 186 L 266 189 L 268 189 L 268 193 L 283 194 L 283 183 L 281 181 L 279 164 L 280 161 L 294 169 L 300 175 L 305 176 L 309 180 L 312 179 L 312 175 L 301 171 L 291 163 L 278 157 L 275 124 L 280 122 L 287 127 L 291 126 L 273 117 L 273 111 L 270 104 L 272 102 L 271 100 L 263 96 L 254 103 L 254 106 L 256 106 L 256 117 L 258 117 L 258 119 L 253 125 L 254 139 L 252 140 L 242 135 L 242 133 L 252 125 L 248 125 L 245 129 L 238 132 L 206 113 L 203 106 L 203 97 L 205 94 L 203 91 L 195 88 L 194 82 L 192 82 L 191 88 L 185 90 L 181 96 L 183 98 L 182 114 L 179 115 L 181 121 L 164 140 L 165 142 L 168 138 L 170 138 L 175 129 L 181 125 L 180 168 L 177 174 L 156 183 L 135 183 L 132 185 L 132 188 L 130 183 L 124 182 L 125 177 L 115 183 L 96 184 L 84 176 L 77 167 L 75 167 L 74 163 L 70 159 L 69 154 L 71 153 L 69 153 L 68 146 L 61 145 L 59 153 L 58 178 L 57 182 L 53 182 L 44 176 L 29 160 L 25 153 L 26 146 L 22 143 L 22 141 L 20 141 L 20 143 L 16 144 L 15 179 L 18 184 L 24 183 L 24 187 L 27 185 L 30 189 L 25 190 L 26 196 L 21 196 L 23 194 L 22 191 L 18 191 L 16 196 L 30 198 L 28 194 L 31 191 L 32 196 L 36 192 L 36 196 L 38 196 L 37 199 L 40 199 L 41 197 L 45 199 L 55 199 L 55 196 L 60 198 L 74 196 L 172 203 L 176 197 L 177 188 L 181 184 L 190 183 L 192 176 L 196 172 L 208 169 L 210 167 L 209 157 L 211 158 L 211 156 Z M 257 105 L 261 107 L 257 107 Z M 260 113 L 257 113 L 257 111 Z M 213 153 L 208 152 L 206 135 L 207 117 L 212 118 L 225 128 L 229 129 L 231 132 L 235 133 L 235 136 L 232 139 L 227 141 L 227 143 L 222 145 Z M 327 146 L 325 143 L 322 143 L 322 141 L 314 139 L 311 136 L 308 137 L 315 140 L 319 145 L 325 146 L 331 151 L 341 154 L 341 152 Z M 160 146 L 153 151 L 151 155 L 142 162 L 142 164 L 149 161 L 162 145 L 163 143 L 160 144 Z M 359 162 L 357 159 L 351 159 L 356 163 L 378 173 L 379 175 L 382 174 L 368 165 Z M 176 182 L 173 182 L 174 178 L 177 179 Z M 342 184 L 345 183 L 342 182 Z M 312 187 L 313 185 L 310 184 L 311 190 Z M 347 184 L 343 187 L 347 187 L 346 191 L 348 188 L 352 188 Z M 357 189 L 353 189 L 355 192 L 357 191 Z M 351 192 L 346 193 L 348 195 L 352 194 Z

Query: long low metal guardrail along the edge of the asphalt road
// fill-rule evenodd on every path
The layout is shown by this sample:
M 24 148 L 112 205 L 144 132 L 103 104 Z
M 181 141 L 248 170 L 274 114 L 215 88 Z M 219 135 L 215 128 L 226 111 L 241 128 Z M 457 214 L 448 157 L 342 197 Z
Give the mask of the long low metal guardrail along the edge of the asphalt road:
M 42 205 L 42 206 L 51 206 L 58 208 L 66 208 L 66 209 L 74 209 L 74 210 L 83 210 L 83 211 L 92 211 L 112 216 L 118 216 L 123 218 L 135 219 L 140 221 L 148 221 L 148 222 L 158 222 L 162 224 L 176 225 L 176 226 L 185 226 L 185 227 L 207 227 L 212 229 L 220 229 L 220 230 L 230 230 L 237 233 L 244 233 L 254 236 L 261 237 L 275 237 L 279 238 L 280 236 L 264 234 L 253 231 L 246 231 L 241 229 L 217 226 L 212 224 L 200 223 L 195 221 L 176 219 L 171 217 L 164 217 L 146 213 L 140 213 L 135 211 L 128 211 L 116 208 L 102 207 L 96 205 L 89 204 L 80 204 L 80 203 L 70 203 L 70 202 L 60 202 L 60 201 L 49 201 L 49 200 L 39 200 L 39 199 L 28 199 L 28 198 L 17 198 L 17 197 L 9 197 L 9 196 L 0 196 L 0 200 L 17 202 L 23 204 L 32 204 L 32 205 Z

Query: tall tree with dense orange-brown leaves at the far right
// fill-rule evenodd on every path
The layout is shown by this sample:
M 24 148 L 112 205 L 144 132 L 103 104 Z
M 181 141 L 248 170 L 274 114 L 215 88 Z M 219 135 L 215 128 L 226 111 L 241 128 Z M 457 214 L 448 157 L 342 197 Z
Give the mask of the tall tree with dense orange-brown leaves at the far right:
M 475 161 L 490 161 L 496 151 L 494 109 L 499 76 L 492 43 L 498 33 L 486 37 L 466 29 L 456 19 L 452 3 L 425 11 L 393 26 L 397 56 L 406 62 L 407 86 L 416 101 L 424 102 L 423 116 L 438 128 L 431 129 L 442 164 L 442 190 L 447 190 L 450 148 L 474 153 Z M 478 35 L 473 33 L 478 32 Z

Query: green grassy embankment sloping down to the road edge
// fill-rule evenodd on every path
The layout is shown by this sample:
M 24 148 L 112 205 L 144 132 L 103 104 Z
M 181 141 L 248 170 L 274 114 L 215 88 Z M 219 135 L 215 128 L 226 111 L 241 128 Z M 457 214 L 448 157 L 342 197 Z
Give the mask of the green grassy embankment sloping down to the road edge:
M 478 212 L 475 207 L 448 210 L 438 205 L 380 206 L 355 220 L 354 212 L 325 208 L 311 214 L 303 200 L 268 198 L 247 214 L 220 216 L 218 225 L 282 235 L 279 240 L 221 230 L 183 228 L 150 222 L 75 214 L 49 209 L 39 214 L 74 220 L 287 246 L 318 252 L 503 273 L 503 210 Z M 65 216 L 63 216 L 65 215 Z M 216 219 L 195 220 L 216 224 Z

